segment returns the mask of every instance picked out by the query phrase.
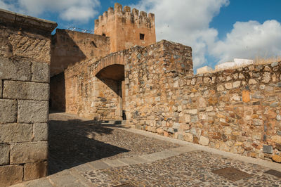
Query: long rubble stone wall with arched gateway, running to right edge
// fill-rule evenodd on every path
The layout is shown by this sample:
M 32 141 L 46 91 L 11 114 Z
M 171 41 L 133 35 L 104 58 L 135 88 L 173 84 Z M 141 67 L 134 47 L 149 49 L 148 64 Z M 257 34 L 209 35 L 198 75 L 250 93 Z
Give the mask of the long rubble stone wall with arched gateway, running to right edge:
M 124 80 L 110 79 L 114 65 Z M 160 41 L 68 67 L 66 111 L 120 120 L 123 110 L 137 129 L 281 162 L 280 72 L 275 62 L 193 75 L 190 47 Z

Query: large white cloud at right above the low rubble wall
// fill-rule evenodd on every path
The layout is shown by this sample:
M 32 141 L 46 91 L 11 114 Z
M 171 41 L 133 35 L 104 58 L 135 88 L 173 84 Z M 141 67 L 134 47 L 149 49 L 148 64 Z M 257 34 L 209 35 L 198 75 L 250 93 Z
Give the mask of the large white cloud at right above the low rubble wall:
M 233 58 L 271 58 L 281 55 L 281 25 L 276 20 L 236 22 L 223 41 L 210 47 L 219 63 Z

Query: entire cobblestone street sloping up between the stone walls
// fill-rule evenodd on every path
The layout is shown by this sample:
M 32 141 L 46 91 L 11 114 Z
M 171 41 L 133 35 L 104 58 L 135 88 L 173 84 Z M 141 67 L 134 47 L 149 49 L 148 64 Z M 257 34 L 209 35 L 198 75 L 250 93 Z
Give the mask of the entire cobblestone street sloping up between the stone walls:
M 55 153 L 55 151 L 61 150 L 55 149 L 57 145 L 52 146 L 52 143 L 50 143 L 50 149 L 53 148 L 53 150 L 50 150 L 50 155 L 55 153 L 55 157 L 61 158 L 59 162 L 51 160 L 50 164 L 58 163 L 61 167 L 77 166 L 64 169 L 42 179 L 18 184 L 17 187 L 120 186 L 124 184 L 126 186 L 130 186 L 129 184 L 131 186 L 281 186 L 281 176 L 277 177 L 266 173 L 269 169 L 281 172 L 281 165 L 277 163 L 225 153 L 135 129 L 97 127 L 95 125 L 89 127 L 92 126 L 92 122 L 71 119 L 70 115 L 53 114 L 50 116 L 50 138 L 54 138 L 55 135 L 61 136 L 55 138 L 57 143 L 67 140 L 70 145 L 76 145 L 79 143 L 77 141 L 83 139 L 75 137 L 75 133 L 79 134 L 78 137 L 87 137 L 81 145 L 79 144 L 79 146 L 84 147 L 74 146 L 74 151 L 77 151 L 74 153 L 77 153 L 77 155 L 71 155 L 73 145 L 67 146 L 67 143 L 62 143 L 61 146 L 66 146 L 63 148 L 66 157 L 63 157 L 63 152 L 60 153 L 61 155 Z M 55 130 L 60 131 L 62 129 L 65 130 L 65 134 L 51 134 Z M 91 135 L 89 135 L 89 132 L 91 132 Z M 70 138 L 66 136 L 70 136 Z M 89 141 L 88 136 L 95 141 Z M 122 138 L 122 136 L 127 137 Z M 95 150 L 102 151 L 105 156 L 91 150 L 88 150 L 89 153 L 86 152 L 85 148 L 96 147 L 86 145 L 86 143 L 107 146 L 105 149 L 100 147 Z M 109 148 L 109 153 L 107 153 L 107 148 Z M 110 153 L 112 150 L 119 149 L 122 149 L 122 151 Z M 79 151 L 82 151 L 83 154 L 78 154 Z M 93 156 L 93 153 L 95 153 L 95 156 Z M 85 155 L 88 155 L 88 157 Z M 72 162 L 75 164 L 72 164 Z M 84 163 L 78 165 L 79 162 Z M 250 176 L 231 181 L 213 172 L 216 169 L 226 167 L 239 169 L 250 174 Z M 241 176 L 246 175 L 242 174 Z

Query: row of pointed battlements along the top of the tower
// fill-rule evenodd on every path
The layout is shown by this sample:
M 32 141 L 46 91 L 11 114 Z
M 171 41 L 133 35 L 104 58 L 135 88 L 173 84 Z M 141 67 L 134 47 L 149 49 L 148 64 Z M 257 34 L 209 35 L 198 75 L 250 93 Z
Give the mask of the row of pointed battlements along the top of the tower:
M 155 26 L 155 15 L 153 13 L 146 13 L 144 11 L 138 11 L 138 9 L 124 6 L 116 3 L 115 8 L 108 8 L 107 11 L 100 15 L 97 20 L 95 20 L 95 30 L 98 27 L 105 26 L 107 22 L 121 18 L 122 22 L 130 22 L 135 25 L 145 25 L 148 28 Z

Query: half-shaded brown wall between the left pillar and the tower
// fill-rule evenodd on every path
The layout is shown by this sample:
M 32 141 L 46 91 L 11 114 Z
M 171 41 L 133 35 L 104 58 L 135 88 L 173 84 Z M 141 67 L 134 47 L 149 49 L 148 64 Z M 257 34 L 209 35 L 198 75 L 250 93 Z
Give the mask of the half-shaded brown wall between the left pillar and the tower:
M 52 37 L 51 77 L 63 72 L 68 65 L 110 53 L 110 38 L 71 30 L 55 30 Z

